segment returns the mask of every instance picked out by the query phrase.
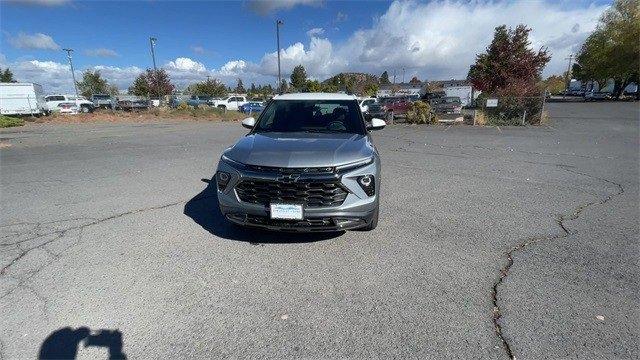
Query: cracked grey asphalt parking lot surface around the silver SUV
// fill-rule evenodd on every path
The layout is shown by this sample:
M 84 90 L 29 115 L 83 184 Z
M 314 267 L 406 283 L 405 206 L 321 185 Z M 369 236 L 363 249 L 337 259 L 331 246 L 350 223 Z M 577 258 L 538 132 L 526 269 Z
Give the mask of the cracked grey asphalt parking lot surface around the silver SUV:
M 379 226 L 330 235 L 219 217 L 238 123 L 2 130 L 2 358 L 638 358 L 639 104 L 549 111 L 375 133 Z

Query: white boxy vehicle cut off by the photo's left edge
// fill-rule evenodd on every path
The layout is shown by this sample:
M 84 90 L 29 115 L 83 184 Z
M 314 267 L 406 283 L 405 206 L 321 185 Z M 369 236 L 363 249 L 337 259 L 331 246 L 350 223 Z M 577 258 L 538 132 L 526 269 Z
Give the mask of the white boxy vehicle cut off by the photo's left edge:
M 33 83 L 0 83 L 2 115 L 40 116 L 48 112 L 42 86 Z

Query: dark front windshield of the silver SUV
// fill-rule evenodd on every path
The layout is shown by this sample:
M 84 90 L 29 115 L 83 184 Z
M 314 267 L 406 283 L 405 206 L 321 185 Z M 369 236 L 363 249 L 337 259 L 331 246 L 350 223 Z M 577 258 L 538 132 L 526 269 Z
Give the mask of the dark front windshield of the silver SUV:
M 254 129 L 266 131 L 364 134 L 365 127 L 355 100 L 274 100 Z

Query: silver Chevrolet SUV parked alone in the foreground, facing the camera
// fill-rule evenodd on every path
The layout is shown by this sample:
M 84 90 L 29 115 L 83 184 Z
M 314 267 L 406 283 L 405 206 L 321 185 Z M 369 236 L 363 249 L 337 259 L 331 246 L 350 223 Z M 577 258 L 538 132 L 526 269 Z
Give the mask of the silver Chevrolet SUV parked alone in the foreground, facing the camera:
M 278 95 L 249 134 L 225 150 L 215 175 L 220 210 L 235 224 L 340 231 L 378 224 L 380 158 L 356 97 Z

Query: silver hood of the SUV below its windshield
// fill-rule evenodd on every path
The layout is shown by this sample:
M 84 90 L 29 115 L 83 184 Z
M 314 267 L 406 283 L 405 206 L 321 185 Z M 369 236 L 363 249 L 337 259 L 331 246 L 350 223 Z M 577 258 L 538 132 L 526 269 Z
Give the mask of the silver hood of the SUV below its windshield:
M 368 159 L 373 152 L 365 135 L 273 132 L 247 135 L 225 155 L 248 165 L 322 167 Z

